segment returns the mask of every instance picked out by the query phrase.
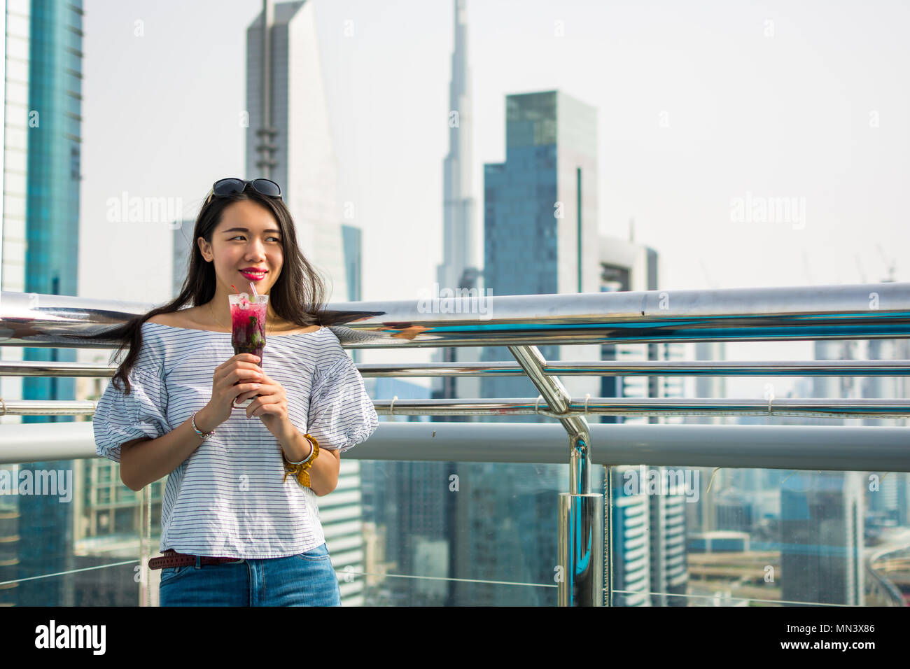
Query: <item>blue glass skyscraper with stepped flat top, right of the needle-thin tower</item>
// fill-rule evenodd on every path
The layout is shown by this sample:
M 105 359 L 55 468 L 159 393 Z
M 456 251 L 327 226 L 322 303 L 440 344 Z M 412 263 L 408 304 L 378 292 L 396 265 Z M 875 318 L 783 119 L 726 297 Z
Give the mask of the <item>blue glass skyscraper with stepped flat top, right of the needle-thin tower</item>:
M 560 91 L 506 97 L 506 161 L 484 166 L 484 277 L 493 295 L 600 290 L 596 147 L 594 107 Z M 546 360 L 600 354 L 599 345 L 539 349 Z M 485 347 L 482 360 L 513 358 L 504 346 Z M 600 390 L 594 377 L 561 381 L 573 396 Z M 488 398 L 539 394 L 526 377 L 485 377 L 481 389 Z

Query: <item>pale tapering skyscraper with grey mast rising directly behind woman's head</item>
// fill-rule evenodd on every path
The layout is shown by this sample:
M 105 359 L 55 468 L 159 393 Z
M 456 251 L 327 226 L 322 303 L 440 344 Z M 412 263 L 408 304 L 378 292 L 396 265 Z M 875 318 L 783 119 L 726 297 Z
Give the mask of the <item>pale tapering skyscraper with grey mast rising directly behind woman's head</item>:
M 329 279 L 327 299 L 345 301 L 348 271 L 336 194 L 338 166 L 315 12 L 312 0 L 273 9 L 269 1 L 268 49 L 263 15 L 247 28 L 246 169 L 247 178 L 278 182 L 300 249 Z

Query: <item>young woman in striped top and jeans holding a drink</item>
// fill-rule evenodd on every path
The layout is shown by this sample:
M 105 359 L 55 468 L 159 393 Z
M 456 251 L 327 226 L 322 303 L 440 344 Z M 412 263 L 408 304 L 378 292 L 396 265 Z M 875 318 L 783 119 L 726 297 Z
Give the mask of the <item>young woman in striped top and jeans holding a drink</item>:
M 278 184 L 215 182 L 193 239 L 177 299 L 104 333 L 129 352 L 98 400 L 96 451 L 131 490 L 167 476 L 160 605 L 339 606 L 317 498 L 376 410 L 324 327 Z M 250 281 L 268 295 L 262 360 L 231 345 L 227 296 Z

